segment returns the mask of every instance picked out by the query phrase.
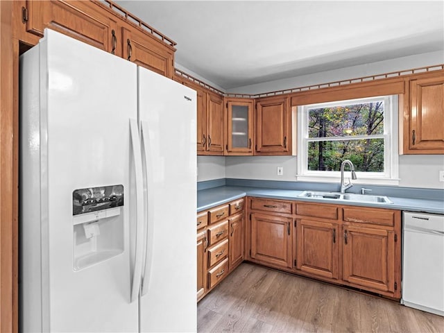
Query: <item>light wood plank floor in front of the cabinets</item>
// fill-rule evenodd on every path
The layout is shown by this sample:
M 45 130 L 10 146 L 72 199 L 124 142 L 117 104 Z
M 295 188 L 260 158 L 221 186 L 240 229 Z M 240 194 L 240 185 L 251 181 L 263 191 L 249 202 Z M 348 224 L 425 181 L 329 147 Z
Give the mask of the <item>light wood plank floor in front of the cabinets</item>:
M 198 332 L 444 332 L 444 318 L 243 263 L 198 302 Z

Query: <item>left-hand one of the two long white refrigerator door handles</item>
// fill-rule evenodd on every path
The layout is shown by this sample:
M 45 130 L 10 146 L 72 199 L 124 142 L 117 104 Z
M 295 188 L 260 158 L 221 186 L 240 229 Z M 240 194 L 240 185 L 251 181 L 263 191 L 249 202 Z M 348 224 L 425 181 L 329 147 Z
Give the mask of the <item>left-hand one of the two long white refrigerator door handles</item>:
M 139 141 L 139 129 L 137 120 L 130 119 L 131 143 L 133 144 L 133 162 L 135 167 L 135 192 L 136 192 L 136 244 L 133 282 L 131 284 L 131 302 L 139 299 L 139 286 L 142 275 L 142 255 L 144 246 L 144 188 L 142 173 L 142 156 Z

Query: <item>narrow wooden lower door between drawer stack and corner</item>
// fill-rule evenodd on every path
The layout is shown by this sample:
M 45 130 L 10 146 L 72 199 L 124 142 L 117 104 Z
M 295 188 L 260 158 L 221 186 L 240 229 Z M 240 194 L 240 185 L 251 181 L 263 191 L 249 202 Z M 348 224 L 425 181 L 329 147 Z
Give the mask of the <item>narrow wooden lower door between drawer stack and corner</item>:
M 230 271 L 241 262 L 244 261 L 245 257 L 245 236 L 244 236 L 244 230 L 245 230 L 245 218 L 244 213 L 239 213 L 234 215 L 229 220 L 229 241 L 230 241 Z

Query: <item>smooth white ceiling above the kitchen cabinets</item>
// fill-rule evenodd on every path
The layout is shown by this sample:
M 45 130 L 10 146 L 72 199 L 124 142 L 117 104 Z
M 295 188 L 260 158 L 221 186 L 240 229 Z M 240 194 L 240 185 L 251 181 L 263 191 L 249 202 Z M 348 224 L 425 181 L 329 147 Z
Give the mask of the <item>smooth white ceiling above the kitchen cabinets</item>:
M 115 2 L 224 89 L 444 50 L 442 0 Z

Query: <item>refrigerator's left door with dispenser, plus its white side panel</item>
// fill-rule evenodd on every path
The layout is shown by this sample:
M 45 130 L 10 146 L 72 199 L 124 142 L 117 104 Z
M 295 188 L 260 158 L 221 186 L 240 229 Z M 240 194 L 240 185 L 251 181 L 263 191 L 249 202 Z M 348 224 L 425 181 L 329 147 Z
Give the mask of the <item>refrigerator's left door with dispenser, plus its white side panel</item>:
M 40 75 L 21 83 L 21 112 L 40 121 L 22 140 L 22 156 L 34 152 L 28 160 L 35 164 L 22 165 L 22 175 L 39 178 L 37 170 L 40 179 L 21 183 L 28 198 L 21 252 L 35 251 L 41 261 L 21 277 L 35 287 L 22 292 L 22 330 L 137 332 L 138 302 L 130 302 L 137 67 L 60 33 L 44 35 L 36 46 Z M 29 98 L 35 103 L 23 103 Z M 29 234 L 29 225 L 37 232 Z

